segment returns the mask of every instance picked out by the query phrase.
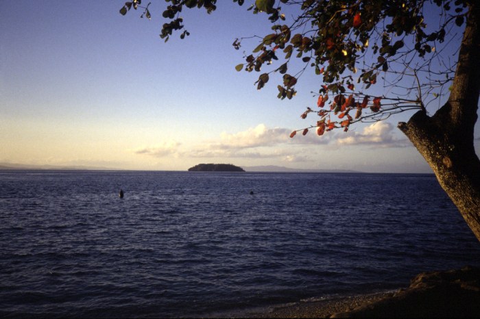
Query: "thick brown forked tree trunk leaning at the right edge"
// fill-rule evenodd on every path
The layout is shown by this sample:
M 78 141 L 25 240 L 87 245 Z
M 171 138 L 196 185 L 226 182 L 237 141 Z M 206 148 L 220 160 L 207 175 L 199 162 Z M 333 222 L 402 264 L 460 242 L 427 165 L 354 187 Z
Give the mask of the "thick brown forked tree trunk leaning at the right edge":
M 398 128 L 427 160 L 480 240 L 480 160 L 473 145 L 480 94 L 480 3 L 472 2 L 448 102 L 435 115 L 420 111 Z

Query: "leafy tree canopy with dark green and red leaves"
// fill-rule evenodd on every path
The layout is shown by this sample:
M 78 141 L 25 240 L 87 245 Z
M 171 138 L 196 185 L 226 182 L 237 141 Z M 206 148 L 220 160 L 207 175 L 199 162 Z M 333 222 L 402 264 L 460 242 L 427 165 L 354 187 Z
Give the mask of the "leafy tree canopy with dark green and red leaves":
M 173 31 L 180 38 L 189 36 L 180 13 L 185 8 L 216 10 L 216 0 L 165 0 L 160 38 L 165 41 Z M 232 0 L 243 5 L 243 0 Z M 318 135 L 353 123 L 387 118 L 405 110 L 426 110 L 440 99 L 455 74 L 455 62 L 448 64 L 447 44 L 457 27 L 464 25 L 468 0 L 256 0 L 248 10 L 267 14 L 272 33 L 257 36 L 260 42 L 237 71 L 258 72 L 255 82 L 260 90 L 272 73 L 280 73 L 278 98 L 292 99 L 296 84 L 311 67 L 322 77 L 315 92 L 316 107 L 307 107 L 300 116 L 318 116 L 316 123 L 299 129 L 303 135 L 315 128 Z M 142 17 L 151 18 L 149 5 L 141 0 L 127 1 L 120 13 L 142 8 Z M 433 10 L 433 12 L 432 12 Z M 294 14 L 291 14 L 294 12 Z M 292 21 L 287 21 L 287 14 Z M 242 40 L 233 42 L 240 49 Z M 457 46 L 457 49 L 459 44 Z M 283 55 L 280 57 L 280 55 Z M 279 58 L 280 57 L 280 58 Z M 295 69 L 293 60 L 301 60 Z M 281 60 L 281 61 L 280 61 Z M 263 71 L 269 66 L 270 71 Z M 408 79 L 410 78 L 410 79 Z M 402 96 L 368 95 L 370 86 L 381 81 L 385 88 L 400 88 Z M 358 88 L 356 88 L 358 86 Z M 295 136 L 297 131 L 291 133 Z

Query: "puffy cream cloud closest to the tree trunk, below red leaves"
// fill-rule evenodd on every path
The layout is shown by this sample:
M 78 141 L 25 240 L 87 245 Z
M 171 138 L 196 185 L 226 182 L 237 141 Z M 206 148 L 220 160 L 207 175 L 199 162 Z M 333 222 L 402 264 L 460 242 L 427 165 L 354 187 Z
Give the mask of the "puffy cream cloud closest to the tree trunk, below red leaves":
M 336 144 L 339 146 L 345 145 L 372 145 L 381 147 L 406 147 L 409 146 L 409 141 L 398 139 L 394 136 L 394 125 L 388 122 L 376 122 L 368 127 L 365 127 L 362 133 L 353 133 L 348 136 L 337 136 Z

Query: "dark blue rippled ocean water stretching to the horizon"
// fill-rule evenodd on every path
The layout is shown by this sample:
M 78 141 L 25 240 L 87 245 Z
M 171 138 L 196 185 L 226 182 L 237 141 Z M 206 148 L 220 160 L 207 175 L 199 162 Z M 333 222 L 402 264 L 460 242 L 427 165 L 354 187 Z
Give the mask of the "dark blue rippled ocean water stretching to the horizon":
M 2 317 L 245 314 L 480 266 L 433 175 L 0 171 L 0 247 Z

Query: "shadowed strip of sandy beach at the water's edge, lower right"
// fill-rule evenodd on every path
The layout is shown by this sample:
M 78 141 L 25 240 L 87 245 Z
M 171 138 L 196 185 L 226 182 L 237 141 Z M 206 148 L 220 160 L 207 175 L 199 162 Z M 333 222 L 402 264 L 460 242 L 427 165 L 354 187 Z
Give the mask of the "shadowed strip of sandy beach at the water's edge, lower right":
M 251 318 L 479 318 L 480 268 L 422 272 L 406 289 L 300 302 Z

